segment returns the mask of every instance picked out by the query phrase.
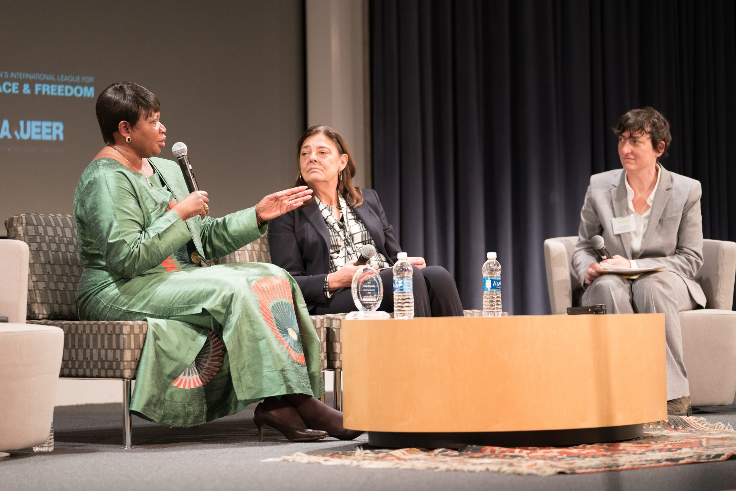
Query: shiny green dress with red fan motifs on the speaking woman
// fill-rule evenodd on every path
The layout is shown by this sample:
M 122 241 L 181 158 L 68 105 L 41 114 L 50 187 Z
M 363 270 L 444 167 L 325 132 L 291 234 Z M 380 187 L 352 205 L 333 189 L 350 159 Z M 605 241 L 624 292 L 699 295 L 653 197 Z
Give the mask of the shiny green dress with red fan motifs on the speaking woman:
M 289 273 L 258 262 L 198 267 L 198 257 L 266 233 L 255 207 L 184 222 L 170 211 L 188 195 L 179 166 L 149 162 L 151 184 L 117 160 L 94 160 L 74 192 L 79 318 L 148 321 L 130 411 L 194 426 L 272 395 L 322 395 L 319 339 Z

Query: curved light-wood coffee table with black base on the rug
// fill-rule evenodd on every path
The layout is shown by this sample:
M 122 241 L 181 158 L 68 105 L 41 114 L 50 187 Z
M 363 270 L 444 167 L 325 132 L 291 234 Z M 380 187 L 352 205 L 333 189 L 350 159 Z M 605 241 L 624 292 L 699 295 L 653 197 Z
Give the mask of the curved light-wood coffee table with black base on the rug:
M 665 315 L 343 320 L 344 426 L 384 447 L 628 440 L 667 417 Z

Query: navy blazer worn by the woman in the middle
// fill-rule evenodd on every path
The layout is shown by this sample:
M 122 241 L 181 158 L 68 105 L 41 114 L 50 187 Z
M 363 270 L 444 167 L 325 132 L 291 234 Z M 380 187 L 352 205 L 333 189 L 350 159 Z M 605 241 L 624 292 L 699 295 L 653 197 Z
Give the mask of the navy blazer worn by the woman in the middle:
M 386 221 L 378 194 L 363 190 L 363 203 L 353 212 L 366 226 L 378 251 L 396 262 L 401 251 L 391 224 Z M 325 276 L 330 270 L 330 231 L 316 201 L 274 218 L 269 223 L 271 261 L 299 284 L 308 309 L 326 304 Z

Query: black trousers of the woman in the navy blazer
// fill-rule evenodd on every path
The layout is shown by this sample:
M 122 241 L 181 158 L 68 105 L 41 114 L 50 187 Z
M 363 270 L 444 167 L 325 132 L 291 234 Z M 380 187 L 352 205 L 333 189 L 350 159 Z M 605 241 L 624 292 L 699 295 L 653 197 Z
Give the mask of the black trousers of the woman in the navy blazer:
M 462 304 L 455 279 L 442 266 L 413 266 L 414 317 L 461 317 Z M 381 271 L 383 301 L 379 310 L 394 312 L 394 272 L 391 268 Z M 318 304 L 311 315 L 341 314 L 358 310 L 350 288 L 333 291 L 327 304 Z

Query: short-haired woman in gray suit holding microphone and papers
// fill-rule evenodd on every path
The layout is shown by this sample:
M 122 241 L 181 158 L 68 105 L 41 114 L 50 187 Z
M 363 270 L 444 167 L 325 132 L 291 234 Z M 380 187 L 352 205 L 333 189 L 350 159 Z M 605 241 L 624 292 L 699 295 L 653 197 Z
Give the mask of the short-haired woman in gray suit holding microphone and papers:
M 580 213 L 573 268 L 585 288 L 582 303 L 606 304 L 609 313 L 665 314 L 667 410 L 691 415 L 678 312 L 705 307 L 695 281 L 703 265 L 701 185 L 658 162 L 672 137 L 670 123 L 657 110 L 630 110 L 614 131 L 623 169 L 591 176 Z M 594 235 L 613 254 L 606 264 L 665 269 L 635 279 L 601 274 L 604 267 L 590 243 Z

